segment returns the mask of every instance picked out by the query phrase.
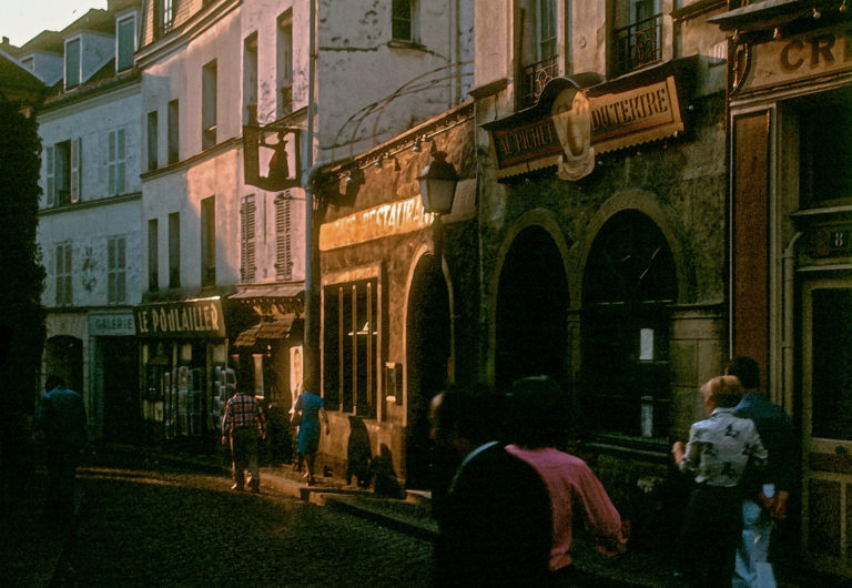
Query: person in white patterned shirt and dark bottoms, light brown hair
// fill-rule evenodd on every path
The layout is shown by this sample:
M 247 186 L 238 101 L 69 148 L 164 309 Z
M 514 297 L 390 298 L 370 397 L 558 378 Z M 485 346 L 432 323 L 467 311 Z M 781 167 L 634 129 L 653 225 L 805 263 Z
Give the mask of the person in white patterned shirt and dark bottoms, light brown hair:
M 733 415 L 742 394 L 733 376 L 701 386 L 709 418 L 692 424 L 689 443 L 671 453 L 681 472 L 694 476 L 677 552 L 689 586 L 730 587 L 742 529 L 741 483 L 747 468 L 761 470 L 768 453 L 754 423 Z

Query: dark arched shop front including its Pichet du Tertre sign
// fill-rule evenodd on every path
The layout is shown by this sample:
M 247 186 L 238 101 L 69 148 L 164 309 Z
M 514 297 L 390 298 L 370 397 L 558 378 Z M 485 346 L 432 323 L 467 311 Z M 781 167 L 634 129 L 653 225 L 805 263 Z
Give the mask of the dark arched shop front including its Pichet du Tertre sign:
M 503 211 L 480 214 L 489 384 L 560 382 L 575 450 L 642 548 L 677 535 L 670 443 L 726 357 L 724 98 L 699 65 L 557 78 L 483 121 L 481 206 Z

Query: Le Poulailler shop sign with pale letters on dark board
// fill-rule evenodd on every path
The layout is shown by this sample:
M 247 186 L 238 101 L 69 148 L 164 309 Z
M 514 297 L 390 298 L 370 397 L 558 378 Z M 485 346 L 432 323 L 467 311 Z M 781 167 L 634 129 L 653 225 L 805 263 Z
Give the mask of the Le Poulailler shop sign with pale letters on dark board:
M 225 337 L 220 298 L 142 304 L 133 312 L 140 337 Z

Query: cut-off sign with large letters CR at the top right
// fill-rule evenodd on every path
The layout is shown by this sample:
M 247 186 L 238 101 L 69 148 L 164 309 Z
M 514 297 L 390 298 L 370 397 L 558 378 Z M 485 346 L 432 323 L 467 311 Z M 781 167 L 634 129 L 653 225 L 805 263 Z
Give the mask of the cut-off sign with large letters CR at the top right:
M 852 70 L 852 29 L 821 30 L 751 48 L 743 90 Z

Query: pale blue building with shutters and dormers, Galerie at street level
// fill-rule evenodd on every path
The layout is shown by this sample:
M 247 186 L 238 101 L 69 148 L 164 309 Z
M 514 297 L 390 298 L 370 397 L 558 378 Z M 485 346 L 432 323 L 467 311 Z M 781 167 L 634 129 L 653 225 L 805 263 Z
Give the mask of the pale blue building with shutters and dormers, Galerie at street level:
M 93 433 L 113 440 L 133 439 L 139 428 L 131 308 L 142 291 L 141 81 L 132 59 L 140 8 L 116 1 L 90 10 L 19 55 L 51 88 L 38 111 L 43 369 L 83 393 Z

